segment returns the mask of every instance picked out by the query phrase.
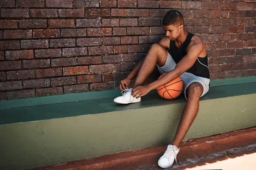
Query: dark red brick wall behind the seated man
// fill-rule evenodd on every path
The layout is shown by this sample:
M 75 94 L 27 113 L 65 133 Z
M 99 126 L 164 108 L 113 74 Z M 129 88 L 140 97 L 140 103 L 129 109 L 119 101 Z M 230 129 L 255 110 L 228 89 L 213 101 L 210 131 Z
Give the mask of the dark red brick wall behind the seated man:
M 211 79 L 256 75 L 255 0 L 1 0 L 0 100 L 117 88 L 170 9 L 205 41 Z

